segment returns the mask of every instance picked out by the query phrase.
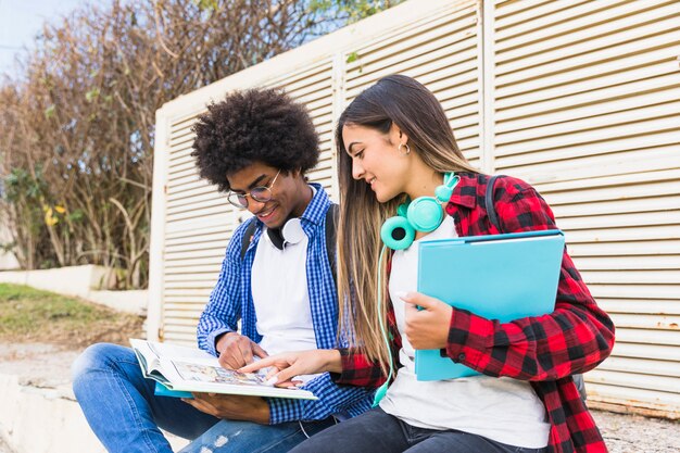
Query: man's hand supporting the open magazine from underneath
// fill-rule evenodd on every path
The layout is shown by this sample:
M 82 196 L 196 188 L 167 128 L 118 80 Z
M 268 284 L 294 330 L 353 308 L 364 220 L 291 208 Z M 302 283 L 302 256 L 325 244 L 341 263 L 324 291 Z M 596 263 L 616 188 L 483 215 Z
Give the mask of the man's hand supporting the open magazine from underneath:
M 181 401 L 213 417 L 269 424 L 269 405 L 260 397 L 193 393 L 193 400 Z

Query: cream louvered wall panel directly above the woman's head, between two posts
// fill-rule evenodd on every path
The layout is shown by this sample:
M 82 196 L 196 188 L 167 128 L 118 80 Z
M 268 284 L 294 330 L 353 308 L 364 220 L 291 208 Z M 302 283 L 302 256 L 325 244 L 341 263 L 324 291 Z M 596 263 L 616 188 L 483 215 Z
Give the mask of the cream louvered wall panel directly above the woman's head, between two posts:
M 480 3 L 454 8 L 425 23 L 408 23 L 380 40 L 347 52 L 345 99 L 390 74 L 415 77 L 442 102 L 458 147 L 474 164 L 480 159 Z

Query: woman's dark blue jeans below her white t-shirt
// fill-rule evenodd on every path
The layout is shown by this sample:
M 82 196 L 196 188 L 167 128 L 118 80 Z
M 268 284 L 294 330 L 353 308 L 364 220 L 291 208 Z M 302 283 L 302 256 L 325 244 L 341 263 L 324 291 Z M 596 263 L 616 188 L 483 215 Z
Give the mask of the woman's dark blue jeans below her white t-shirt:
M 544 453 L 456 430 L 416 428 L 380 407 L 302 442 L 290 453 Z

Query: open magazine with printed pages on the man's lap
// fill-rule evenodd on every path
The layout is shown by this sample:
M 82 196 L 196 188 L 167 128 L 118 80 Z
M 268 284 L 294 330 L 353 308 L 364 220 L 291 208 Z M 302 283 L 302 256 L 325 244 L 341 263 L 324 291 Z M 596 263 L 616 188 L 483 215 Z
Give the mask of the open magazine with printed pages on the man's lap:
M 266 382 L 265 373 L 223 368 L 205 351 L 176 344 L 130 339 L 144 377 L 156 381 L 156 394 L 182 397 L 187 392 L 316 400 L 307 390 L 282 389 Z M 181 393 L 184 392 L 184 393 Z

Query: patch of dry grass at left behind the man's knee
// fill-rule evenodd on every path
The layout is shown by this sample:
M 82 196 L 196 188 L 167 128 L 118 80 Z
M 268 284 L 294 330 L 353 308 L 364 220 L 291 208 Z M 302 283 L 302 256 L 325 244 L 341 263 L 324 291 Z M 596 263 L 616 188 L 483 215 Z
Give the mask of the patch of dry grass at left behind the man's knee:
M 0 284 L 0 341 L 75 347 L 96 341 L 127 343 L 142 319 L 77 298 Z

